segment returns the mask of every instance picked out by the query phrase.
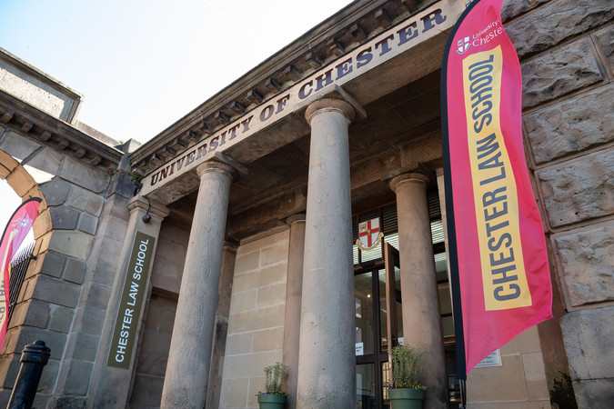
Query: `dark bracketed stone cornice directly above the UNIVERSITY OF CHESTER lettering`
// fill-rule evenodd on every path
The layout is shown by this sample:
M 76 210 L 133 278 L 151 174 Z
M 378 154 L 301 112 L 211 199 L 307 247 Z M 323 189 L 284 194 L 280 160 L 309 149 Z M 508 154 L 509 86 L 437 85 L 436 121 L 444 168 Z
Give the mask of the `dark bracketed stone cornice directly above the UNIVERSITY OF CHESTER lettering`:
M 361 0 L 347 5 L 137 149 L 130 160 L 146 175 L 241 115 L 432 1 Z

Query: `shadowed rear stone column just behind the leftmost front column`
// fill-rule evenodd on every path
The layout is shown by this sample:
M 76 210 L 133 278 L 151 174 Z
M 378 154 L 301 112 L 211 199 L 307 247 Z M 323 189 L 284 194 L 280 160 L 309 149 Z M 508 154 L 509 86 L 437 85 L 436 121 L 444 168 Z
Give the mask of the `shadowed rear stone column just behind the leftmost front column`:
M 222 370 L 226 351 L 226 334 L 228 333 L 228 314 L 230 313 L 230 296 L 235 276 L 238 243 L 226 240 L 222 253 L 222 269 L 219 277 L 219 301 L 217 302 L 213 350 L 211 351 L 211 368 L 207 385 L 206 407 L 218 407 L 222 389 Z

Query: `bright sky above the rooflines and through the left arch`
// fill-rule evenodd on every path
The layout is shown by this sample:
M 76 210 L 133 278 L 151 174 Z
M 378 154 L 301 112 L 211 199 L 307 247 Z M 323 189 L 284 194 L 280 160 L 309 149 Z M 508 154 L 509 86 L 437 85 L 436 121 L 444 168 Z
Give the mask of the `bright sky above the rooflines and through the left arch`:
M 2 0 L 0 47 L 84 95 L 81 122 L 144 143 L 349 3 Z M 20 200 L 0 197 L 4 228 Z

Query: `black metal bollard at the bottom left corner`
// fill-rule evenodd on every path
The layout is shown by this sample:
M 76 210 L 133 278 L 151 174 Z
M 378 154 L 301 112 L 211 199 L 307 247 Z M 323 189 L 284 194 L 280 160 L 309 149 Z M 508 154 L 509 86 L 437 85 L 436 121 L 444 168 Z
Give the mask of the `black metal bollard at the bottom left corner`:
M 41 380 L 43 368 L 49 361 L 51 349 L 44 341 L 25 345 L 21 354 L 21 367 L 13 386 L 11 399 L 6 409 L 30 409 L 34 403 L 38 382 Z

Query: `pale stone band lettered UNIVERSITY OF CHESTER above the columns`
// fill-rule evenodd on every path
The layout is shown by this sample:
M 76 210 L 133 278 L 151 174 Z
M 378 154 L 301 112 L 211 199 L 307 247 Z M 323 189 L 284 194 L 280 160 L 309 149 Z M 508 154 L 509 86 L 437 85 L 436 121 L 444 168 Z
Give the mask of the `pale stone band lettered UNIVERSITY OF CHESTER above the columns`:
M 143 179 L 143 189 L 141 194 L 148 195 L 160 185 L 166 185 L 171 180 L 177 179 L 190 169 L 195 169 L 197 165 L 205 162 L 213 156 L 220 156 L 226 162 L 229 160 L 227 153 L 241 163 L 249 163 L 258 156 L 266 155 L 269 151 L 280 147 L 283 141 L 270 141 L 268 135 L 257 135 L 278 122 L 284 121 L 289 115 L 297 111 L 306 109 L 314 101 L 331 97 L 331 92 L 337 99 L 345 99 L 352 105 L 362 105 L 371 102 L 379 96 L 374 92 L 363 92 L 356 94 L 355 101 L 353 96 L 348 95 L 342 88 L 351 82 L 356 83 L 359 79 L 367 75 L 372 75 L 372 71 L 379 65 L 384 65 L 392 59 L 408 52 L 421 43 L 425 43 L 437 36 L 441 31 L 450 28 L 456 16 L 462 12 L 459 3 L 452 4 L 449 1 L 439 2 L 418 13 L 399 25 L 392 27 L 367 43 L 360 45 L 336 61 L 331 62 L 317 73 L 308 76 L 295 85 L 292 85 L 281 95 L 277 95 L 271 100 L 263 102 L 254 107 L 252 111 L 237 118 L 236 121 L 229 123 L 220 131 L 206 137 L 203 141 L 189 149 L 186 154 L 177 155 L 168 165 L 162 165 L 147 175 Z M 413 70 L 408 70 L 413 71 Z M 364 80 L 363 80 L 364 81 Z M 383 83 L 383 81 L 381 81 Z M 363 85 L 364 87 L 364 85 Z M 384 86 L 380 88 L 385 88 Z M 356 119 L 360 121 L 366 117 L 362 109 L 356 112 Z M 300 136 L 296 132 L 295 137 Z M 287 136 L 286 142 L 290 142 Z M 238 145 L 241 145 L 239 147 Z M 247 154 L 237 150 L 243 149 Z M 169 151 L 170 153 L 170 151 Z M 231 165 L 236 164 L 230 162 Z

